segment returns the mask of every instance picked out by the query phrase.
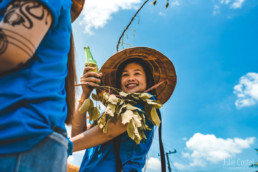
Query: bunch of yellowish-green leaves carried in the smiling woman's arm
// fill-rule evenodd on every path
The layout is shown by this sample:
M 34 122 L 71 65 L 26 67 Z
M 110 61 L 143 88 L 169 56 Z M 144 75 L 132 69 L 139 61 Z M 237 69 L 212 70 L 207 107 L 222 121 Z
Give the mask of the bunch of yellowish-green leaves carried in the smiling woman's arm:
M 96 94 L 92 94 L 95 101 L 101 101 L 106 110 L 100 116 L 99 109 L 94 107 L 93 101 L 88 98 L 84 101 L 80 108 L 80 113 L 88 112 L 90 121 L 97 122 L 98 126 L 104 133 L 107 133 L 109 122 L 116 123 L 121 118 L 122 124 L 127 125 L 128 136 L 137 144 L 141 140 L 145 140 L 145 130 L 151 130 L 146 125 L 145 116 L 154 125 L 160 125 L 160 119 L 157 115 L 156 109 L 162 107 L 160 103 L 152 99 L 149 93 L 125 93 L 119 91 L 118 95 L 104 92 L 100 100 Z M 136 105 L 141 105 L 144 110 L 138 108 Z

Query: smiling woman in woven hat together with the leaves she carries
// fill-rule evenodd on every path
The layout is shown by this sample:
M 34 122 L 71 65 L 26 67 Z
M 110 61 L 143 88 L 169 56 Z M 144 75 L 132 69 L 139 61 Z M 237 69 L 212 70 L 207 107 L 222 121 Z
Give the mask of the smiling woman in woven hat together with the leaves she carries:
M 92 68 L 86 67 L 81 78 L 83 94 L 79 102 L 87 99 L 92 87 L 98 87 L 101 82 L 102 88 L 121 90 L 118 93 L 113 92 L 119 94 L 114 97 L 113 93 L 103 93 L 97 89 L 101 99 L 108 95 L 107 101 L 110 101 L 115 109 L 120 105 L 127 109 L 116 109 L 114 114 L 110 115 L 112 105 L 104 103 L 109 110 L 100 116 L 98 126 L 88 130 L 85 114 L 76 111 L 72 124 L 73 151 L 87 149 L 80 171 L 142 171 L 152 144 L 155 125 L 161 125 L 160 116 L 155 117 L 160 111 L 154 109 L 154 112 L 150 113 L 152 110 L 149 107 L 153 105 L 159 108 L 160 105 L 155 103 L 164 104 L 172 95 L 176 85 L 176 73 L 172 62 L 157 50 L 135 47 L 122 50 L 110 57 L 102 66 L 101 73 L 89 70 Z M 133 102 L 133 106 L 125 102 Z M 118 120 L 114 119 L 116 113 L 120 114 Z M 109 120 L 105 121 L 106 118 Z M 161 151 L 161 154 L 164 155 L 164 151 Z M 164 170 L 163 164 L 162 171 Z

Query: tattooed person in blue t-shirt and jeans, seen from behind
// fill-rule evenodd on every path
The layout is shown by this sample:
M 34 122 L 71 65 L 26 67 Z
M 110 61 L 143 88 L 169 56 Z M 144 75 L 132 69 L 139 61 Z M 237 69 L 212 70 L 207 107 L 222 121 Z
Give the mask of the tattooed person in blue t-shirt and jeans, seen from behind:
M 0 171 L 66 171 L 83 0 L 0 1 Z

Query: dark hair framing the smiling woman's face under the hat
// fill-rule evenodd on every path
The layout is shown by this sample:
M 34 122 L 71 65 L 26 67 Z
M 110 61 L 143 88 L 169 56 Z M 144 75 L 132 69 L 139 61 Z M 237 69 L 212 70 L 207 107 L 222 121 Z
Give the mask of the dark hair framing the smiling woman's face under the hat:
M 126 67 L 126 65 L 128 65 L 129 63 L 137 63 L 140 66 L 142 66 L 145 75 L 146 75 L 146 82 L 147 82 L 147 88 L 150 88 L 154 85 L 154 79 L 153 79 L 153 72 L 152 72 L 152 68 L 150 67 L 150 65 L 143 59 L 140 58 L 131 58 L 128 59 L 126 61 L 124 61 L 123 63 L 121 63 L 116 71 L 116 88 L 121 88 L 121 77 L 122 77 L 122 72 L 124 70 L 124 68 Z M 151 94 L 155 95 L 155 90 L 150 92 Z

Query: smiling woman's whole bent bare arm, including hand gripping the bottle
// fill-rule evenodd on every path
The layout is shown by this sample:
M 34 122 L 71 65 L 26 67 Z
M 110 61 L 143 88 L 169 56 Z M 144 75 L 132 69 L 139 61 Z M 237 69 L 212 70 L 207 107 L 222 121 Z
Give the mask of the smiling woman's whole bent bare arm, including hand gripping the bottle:
M 92 92 L 92 86 L 97 86 L 97 83 L 100 83 L 99 78 L 102 74 L 89 71 L 93 69 L 94 68 L 92 67 L 85 67 L 84 69 L 84 75 L 81 77 L 80 81 L 81 84 L 83 84 L 83 94 L 81 100 L 87 99 Z M 79 113 L 80 106 L 81 104 L 79 104 L 76 110 L 73 120 L 74 122 L 72 123 L 71 141 L 74 144 L 73 152 L 103 144 L 126 131 L 126 125 L 123 125 L 120 119 L 116 123 L 110 122 L 108 124 L 107 133 L 103 133 L 103 131 L 98 126 L 94 126 L 85 131 L 86 114 Z

